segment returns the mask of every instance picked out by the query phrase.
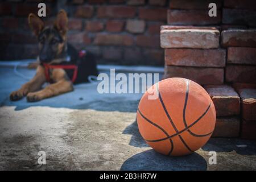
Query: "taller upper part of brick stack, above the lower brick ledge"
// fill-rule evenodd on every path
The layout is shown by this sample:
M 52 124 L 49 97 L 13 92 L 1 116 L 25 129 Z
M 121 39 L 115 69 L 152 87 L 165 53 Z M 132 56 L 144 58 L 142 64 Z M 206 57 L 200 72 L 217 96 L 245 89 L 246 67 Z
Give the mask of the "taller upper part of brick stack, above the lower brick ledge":
M 208 5 L 217 5 L 217 17 Z M 162 26 L 166 77 L 199 84 L 247 82 L 256 77 L 256 1 L 172 0 Z

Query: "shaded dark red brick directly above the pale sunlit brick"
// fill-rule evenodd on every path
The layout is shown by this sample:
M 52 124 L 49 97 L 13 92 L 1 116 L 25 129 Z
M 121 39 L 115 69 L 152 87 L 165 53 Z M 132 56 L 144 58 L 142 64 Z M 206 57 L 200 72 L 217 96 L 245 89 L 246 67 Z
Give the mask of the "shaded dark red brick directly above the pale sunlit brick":
M 209 25 L 221 23 L 221 11 L 210 17 L 208 10 L 168 10 L 167 22 L 172 25 Z

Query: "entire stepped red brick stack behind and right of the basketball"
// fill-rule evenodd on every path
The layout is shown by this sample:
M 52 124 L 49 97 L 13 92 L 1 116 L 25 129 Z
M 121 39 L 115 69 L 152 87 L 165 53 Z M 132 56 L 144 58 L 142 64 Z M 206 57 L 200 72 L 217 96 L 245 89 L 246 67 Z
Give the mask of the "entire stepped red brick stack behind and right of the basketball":
M 217 17 L 208 16 L 215 2 Z M 164 78 L 203 85 L 216 107 L 214 137 L 256 139 L 256 1 L 172 0 L 160 31 Z

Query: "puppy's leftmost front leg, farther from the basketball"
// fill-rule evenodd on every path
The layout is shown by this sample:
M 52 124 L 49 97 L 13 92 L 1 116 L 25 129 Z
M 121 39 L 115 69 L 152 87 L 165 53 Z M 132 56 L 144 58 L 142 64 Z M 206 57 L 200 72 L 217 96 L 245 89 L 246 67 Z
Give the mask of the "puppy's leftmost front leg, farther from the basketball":
M 27 96 L 28 93 L 39 90 L 44 82 L 46 82 L 46 77 L 44 76 L 44 68 L 39 65 L 36 69 L 36 75 L 26 84 L 22 85 L 19 90 L 12 92 L 10 94 L 10 100 L 18 101 L 24 96 Z

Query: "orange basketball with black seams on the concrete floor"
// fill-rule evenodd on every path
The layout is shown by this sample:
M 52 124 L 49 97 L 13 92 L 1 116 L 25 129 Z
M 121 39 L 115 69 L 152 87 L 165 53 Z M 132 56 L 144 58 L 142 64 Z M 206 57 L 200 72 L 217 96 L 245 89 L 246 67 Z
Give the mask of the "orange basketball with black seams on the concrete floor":
M 155 99 L 152 96 L 155 92 Z M 209 94 L 196 82 L 168 78 L 151 86 L 137 111 L 139 132 L 155 151 L 164 155 L 191 154 L 213 133 L 216 113 Z

